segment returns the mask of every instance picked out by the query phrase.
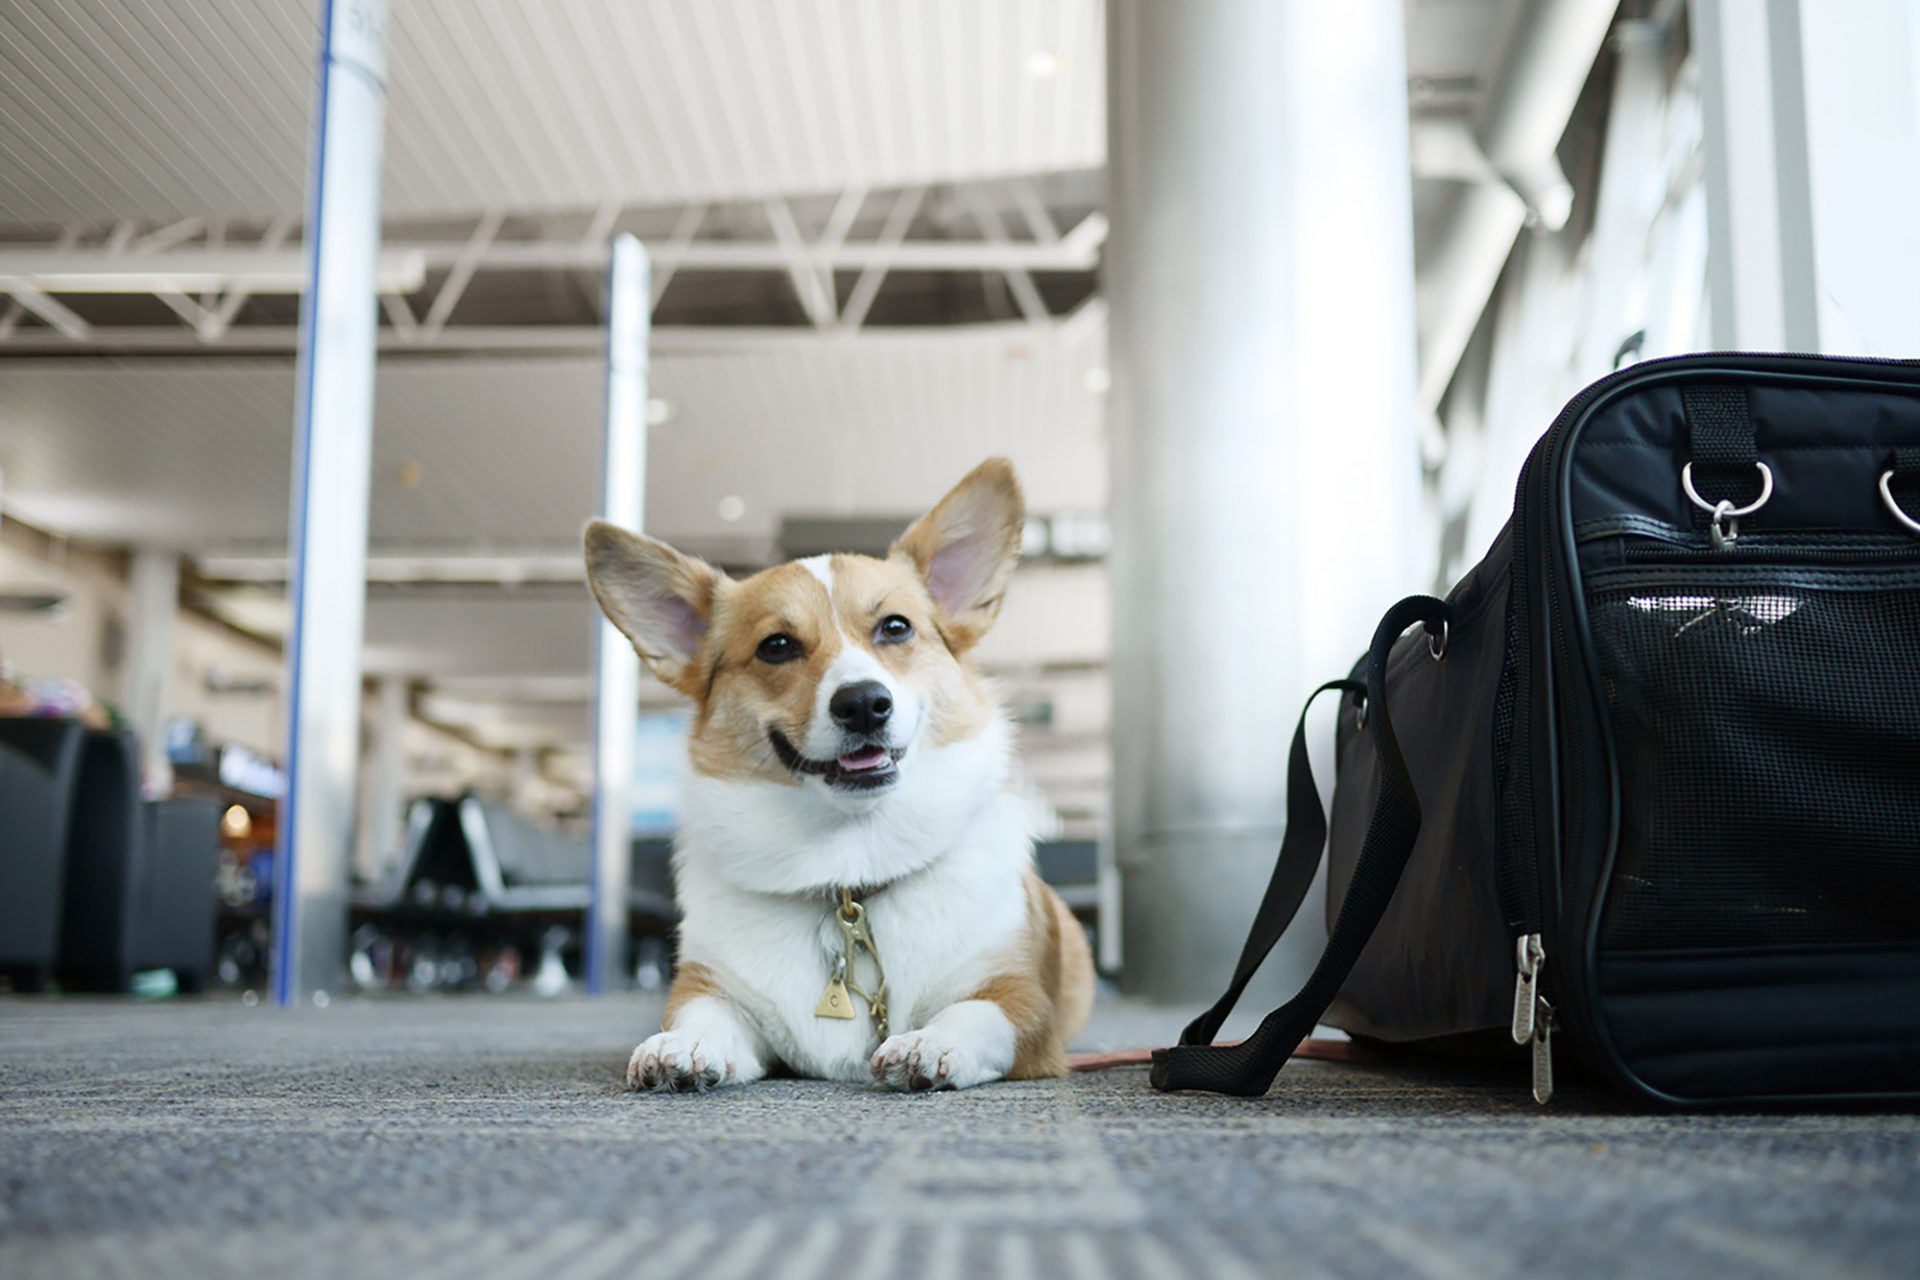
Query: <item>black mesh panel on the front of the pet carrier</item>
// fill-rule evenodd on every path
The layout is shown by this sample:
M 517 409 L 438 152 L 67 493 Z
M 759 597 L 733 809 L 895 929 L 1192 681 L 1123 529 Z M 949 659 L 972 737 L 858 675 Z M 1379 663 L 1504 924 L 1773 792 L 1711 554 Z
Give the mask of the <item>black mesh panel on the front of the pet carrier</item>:
M 1920 574 L 1668 572 L 1588 610 L 1620 768 L 1603 944 L 1920 942 Z

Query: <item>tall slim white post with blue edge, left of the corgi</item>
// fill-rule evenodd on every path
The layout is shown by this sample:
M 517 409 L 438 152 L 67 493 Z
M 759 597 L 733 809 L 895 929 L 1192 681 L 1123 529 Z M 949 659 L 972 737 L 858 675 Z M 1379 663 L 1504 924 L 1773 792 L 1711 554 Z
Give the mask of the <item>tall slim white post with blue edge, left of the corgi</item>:
M 280 1006 L 338 988 L 346 971 L 384 111 L 386 0 L 323 0 L 294 424 L 288 785 L 273 883 Z

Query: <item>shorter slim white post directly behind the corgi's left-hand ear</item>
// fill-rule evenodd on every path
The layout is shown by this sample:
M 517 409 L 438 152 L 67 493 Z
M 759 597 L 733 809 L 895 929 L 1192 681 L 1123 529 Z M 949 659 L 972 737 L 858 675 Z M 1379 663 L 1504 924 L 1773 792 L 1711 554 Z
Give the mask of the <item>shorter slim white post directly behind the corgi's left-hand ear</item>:
M 647 503 L 647 249 L 634 236 L 612 242 L 607 273 L 607 445 L 601 516 L 641 530 Z M 634 731 L 639 658 L 599 618 L 593 643 L 593 900 L 588 906 L 588 994 L 626 984 L 626 912 L 634 842 Z

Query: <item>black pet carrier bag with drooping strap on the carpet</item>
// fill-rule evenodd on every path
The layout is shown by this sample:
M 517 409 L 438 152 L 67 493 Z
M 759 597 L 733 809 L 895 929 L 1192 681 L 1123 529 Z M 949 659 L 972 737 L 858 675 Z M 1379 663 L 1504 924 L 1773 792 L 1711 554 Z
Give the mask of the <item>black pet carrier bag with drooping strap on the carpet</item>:
M 1920 1096 L 1920 363 L 1590 386 L 1486 558 L 1325 691 L 1331 829 L 1296 733 L 1233 984 L 1154 1086 L 1263 1094 L 1323 1021 L 1530 1046 L 1542 1102 L 1567 1055 L 1670 1105 Z M 1327 952 L 1213 1046 L 1323 846 Z

